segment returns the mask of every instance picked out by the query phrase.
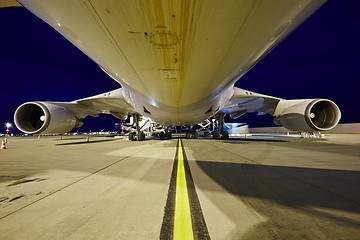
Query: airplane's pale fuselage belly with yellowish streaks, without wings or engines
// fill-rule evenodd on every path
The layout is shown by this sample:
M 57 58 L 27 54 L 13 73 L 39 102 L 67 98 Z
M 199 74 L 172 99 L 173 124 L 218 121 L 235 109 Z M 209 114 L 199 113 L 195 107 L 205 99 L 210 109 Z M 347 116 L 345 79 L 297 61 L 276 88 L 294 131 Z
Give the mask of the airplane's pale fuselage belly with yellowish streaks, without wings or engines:
M 123 87 L 140 114 L 194 124 L 322 0 L 22 1 Z

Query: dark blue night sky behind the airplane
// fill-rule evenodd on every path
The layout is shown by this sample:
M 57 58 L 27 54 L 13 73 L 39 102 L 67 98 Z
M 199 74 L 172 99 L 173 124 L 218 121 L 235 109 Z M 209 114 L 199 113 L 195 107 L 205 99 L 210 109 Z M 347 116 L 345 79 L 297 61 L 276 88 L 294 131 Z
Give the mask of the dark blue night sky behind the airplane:
M 328 98 L 340 107 L 340 123 L 360 122 L 359 7 L 357 0 L 329 0 L 236 86 L 286 99 Z M 119 87 L 24 8 L 0 9 L 0 83 L 0 133 L 26 101 L 72 101 Z M 237 121 L 272 125 L 271 116 L 255 115 Z M 88 117 L 80 130 L 113 130 L 116 122 Z

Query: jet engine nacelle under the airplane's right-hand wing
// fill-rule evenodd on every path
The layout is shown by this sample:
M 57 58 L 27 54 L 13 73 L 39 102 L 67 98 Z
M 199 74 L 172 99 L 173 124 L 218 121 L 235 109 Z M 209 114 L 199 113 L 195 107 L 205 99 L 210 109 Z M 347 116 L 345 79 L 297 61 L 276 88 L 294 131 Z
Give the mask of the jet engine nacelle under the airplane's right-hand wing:
M 327 99 L 281 100 L 274 123 L 293 131 L 327 131 L 341 118 L 339 107 Z

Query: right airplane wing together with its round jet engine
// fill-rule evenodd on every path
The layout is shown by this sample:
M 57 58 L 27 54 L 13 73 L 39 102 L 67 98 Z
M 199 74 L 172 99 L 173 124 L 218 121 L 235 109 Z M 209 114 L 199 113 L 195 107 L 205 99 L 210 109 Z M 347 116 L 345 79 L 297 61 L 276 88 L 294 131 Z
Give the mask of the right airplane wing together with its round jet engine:
M 340 118 L 338 106 L 328 99 L 281 99 L 234 87 L 229 102 L 221 110 L 231 118 L 247 112 L 274 116 L 274 123 L 293 131 L 328 131 Z

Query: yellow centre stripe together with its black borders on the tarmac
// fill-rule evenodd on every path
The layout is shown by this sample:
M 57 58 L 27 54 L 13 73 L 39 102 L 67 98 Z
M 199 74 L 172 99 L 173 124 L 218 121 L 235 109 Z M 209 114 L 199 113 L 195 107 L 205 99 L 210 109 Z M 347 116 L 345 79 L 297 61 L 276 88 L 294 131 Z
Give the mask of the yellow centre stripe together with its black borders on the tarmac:
M 181 139 L 177 143 L 160 239 L 210 239 Z

